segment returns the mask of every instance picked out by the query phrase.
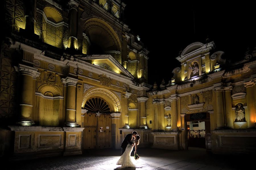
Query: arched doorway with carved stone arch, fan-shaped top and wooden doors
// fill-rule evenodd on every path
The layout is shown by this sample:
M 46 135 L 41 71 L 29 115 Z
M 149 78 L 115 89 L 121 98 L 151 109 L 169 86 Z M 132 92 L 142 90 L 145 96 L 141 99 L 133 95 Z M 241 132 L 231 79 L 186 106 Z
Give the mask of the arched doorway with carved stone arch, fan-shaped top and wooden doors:
M 121 103 L 113 92 L 104 88 L 86 91 L 82 102 L 84 114 L 84 149 L 104 149 L 113 146 L 111 113 L 121 111 Z

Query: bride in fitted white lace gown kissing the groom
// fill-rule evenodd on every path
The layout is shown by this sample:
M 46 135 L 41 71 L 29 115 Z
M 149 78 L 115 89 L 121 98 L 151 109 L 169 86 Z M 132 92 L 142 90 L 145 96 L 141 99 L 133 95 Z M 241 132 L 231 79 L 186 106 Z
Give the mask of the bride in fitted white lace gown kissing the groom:
M 135 136 L 135 139 L 131 140 L 131 143 L 134 143 L 134 145 L 128 144 L 126 146 L 125 152 L 122 154 L 120 159 L 117 161 L 117 165 L 122 165 L 122 167 L 128 168 L 128 167 L 136 167 L 135 164 L 133 164 L 131 160 L 131 152 L 133 151 L 133 146 L 135 146 L 135 154 L 137 153 L 137 146 L 139 145 L 140 136 Z

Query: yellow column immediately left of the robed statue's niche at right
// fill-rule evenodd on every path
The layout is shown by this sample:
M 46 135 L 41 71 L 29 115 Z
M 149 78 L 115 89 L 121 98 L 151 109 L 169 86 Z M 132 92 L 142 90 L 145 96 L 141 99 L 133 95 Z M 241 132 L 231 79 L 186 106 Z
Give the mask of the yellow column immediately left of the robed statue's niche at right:
M 224 88 L 225 90 L 225 111 L 226 111 L 226 127 L 229 129 L 234 129 L 233 125 L 233 112 L 232 112 L 232 102 L 231 102 L 231 90 L 232 86 Z

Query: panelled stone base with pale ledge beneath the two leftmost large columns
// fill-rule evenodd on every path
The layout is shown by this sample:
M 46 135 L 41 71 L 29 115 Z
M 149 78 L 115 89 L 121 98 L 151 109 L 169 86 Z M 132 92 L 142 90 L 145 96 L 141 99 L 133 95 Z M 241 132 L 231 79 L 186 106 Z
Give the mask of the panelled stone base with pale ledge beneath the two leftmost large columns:
M 84 128 L 9 126 L 15 132 L 14 159 L 82 154 Z

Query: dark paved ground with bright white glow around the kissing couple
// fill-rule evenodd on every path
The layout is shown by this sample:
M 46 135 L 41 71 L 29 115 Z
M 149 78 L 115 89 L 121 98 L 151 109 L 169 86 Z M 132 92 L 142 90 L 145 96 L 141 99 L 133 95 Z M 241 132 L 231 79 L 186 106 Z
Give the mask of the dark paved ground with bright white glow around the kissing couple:
M 225 170 L 245 169 L 254 166 L 255 157 L 250 155 L 214 155 L 205 151 L 139 148 L 138 164 L 149 164 L 143 168 L 122 168 L 115 163 L 121 150 L 88 150 L 82 155 L 40 158 L 35 160 L 6 160 L 5 168 L 11 170 Z M 134 159 L 132 157 L 132 159 Z M 253 160 L 254 159 L 254 160 Z M 254 162 L 253 162 L 254 161 Z M 3 167 L 3 164 L 2 164 Z M 1 168 L 2 169 L 2 168 Z

